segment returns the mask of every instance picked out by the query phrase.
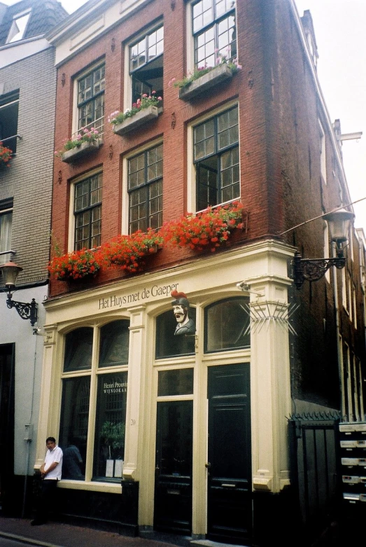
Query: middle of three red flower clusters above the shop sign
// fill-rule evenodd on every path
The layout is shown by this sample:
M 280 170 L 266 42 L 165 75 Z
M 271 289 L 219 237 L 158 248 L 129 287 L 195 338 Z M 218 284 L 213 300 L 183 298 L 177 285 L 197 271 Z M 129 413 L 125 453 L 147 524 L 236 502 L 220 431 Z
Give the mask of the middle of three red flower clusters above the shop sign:
M 146 258 L 156 254 L 162 236 L 155 230 L 137 231 L 132 235 L 118 235 L 101 246 L 98 256 L 106 267 L 115 266 L 126 272 L 143 271 Z

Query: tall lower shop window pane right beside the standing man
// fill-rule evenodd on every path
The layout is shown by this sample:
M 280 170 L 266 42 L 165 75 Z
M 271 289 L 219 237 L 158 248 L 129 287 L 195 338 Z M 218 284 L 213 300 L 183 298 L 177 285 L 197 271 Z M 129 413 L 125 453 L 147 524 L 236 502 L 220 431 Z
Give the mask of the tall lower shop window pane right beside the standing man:
M 83 480 L 90 404 L 90 376 L 62 380 L 59 445 L 64 452 L 62 479 Z

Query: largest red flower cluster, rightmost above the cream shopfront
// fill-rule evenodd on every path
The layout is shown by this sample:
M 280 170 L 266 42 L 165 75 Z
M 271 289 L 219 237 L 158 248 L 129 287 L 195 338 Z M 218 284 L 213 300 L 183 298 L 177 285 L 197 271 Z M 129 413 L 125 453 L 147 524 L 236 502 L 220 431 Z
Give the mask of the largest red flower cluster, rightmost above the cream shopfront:
M 243 228 L 240 202 L 209 207 L 197 214 L 186 214 L 162 227 L 164 243 L 189 247 L 193 251 L 216 251 L 227 244 L 234 228 Z

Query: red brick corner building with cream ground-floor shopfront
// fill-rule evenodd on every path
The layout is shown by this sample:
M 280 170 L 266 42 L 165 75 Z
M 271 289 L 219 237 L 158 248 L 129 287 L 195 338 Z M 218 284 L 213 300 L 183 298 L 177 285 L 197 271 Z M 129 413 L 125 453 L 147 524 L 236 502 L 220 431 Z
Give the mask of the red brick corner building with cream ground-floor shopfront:
M 52 255 L 86 247 L 120 263 L 50 280 L 36 466 L 48 434 L 80 451 L 59 483 L 64 513 L 265 542 L 294 495 L 290 415 L 365 418 L 365 242 L 352 228 L 346 267 L 302 291 L 290 275 L 297 250 L 331 256 L 322 215 L 351 210 L 303 22 L 291 0 L 91 0 L 48 35 Z M 190 238 L 176 224 L 237 201 L 218 240 L 192 217 Z M 131 242 L 108 243 L 148 228 L 159 248 L 124 269 Z M 172 291 L 189 300 L 188 335 L 175 335 Z

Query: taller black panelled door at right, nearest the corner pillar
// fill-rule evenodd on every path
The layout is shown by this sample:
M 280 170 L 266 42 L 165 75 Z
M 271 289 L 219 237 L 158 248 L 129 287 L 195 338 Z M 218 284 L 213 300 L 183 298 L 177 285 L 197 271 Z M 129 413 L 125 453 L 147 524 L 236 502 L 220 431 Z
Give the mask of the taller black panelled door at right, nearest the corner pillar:
M 251 406 L 248 363 L 209 368 L 207 536 L 251 537 Z

